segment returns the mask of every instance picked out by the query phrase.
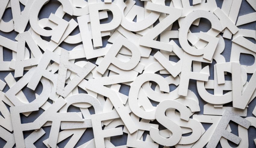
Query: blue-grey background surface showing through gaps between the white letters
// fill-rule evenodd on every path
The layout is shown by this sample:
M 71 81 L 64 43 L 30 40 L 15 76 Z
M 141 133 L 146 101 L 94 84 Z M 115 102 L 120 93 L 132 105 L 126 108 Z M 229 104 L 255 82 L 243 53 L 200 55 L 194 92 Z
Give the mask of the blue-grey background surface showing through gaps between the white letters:
M 190 4 L 192 4 L 192 0 L 189 0 L 190 1 Z M 218 7 L 221 8 L 221 5 L 222 5 L 222 2 L 223 0 L 216 0 L 217 1 L 217 5 Z M 166 0 L 166 4 L 170 4 L 170 0 Z M 47 5 L 45 5 L 42 10 L 40 11 L 40 14 L 39 14 L 39 19 L 42 19 L 42 18 L 48 18 L 48 16 L 51 14 L 51 13 L 55 13 L 56 9 L 58 8 L 58 6 L 60 5 L 60 3 L 56 0 L 51 0 Z M 144 6 L 144 2 L 141 2 L 139 0 L 136 0 L 136 5 L 139 5 L 139 6 Z M 23 6 L 21 6 L 22 9 L 23 9 Z M 239 11 L 239 16 L 241 15 L 244 15 L 244 14 L 248 14 L 248 13 L 252 13 L 254 12 L 254 10 L 251 8 L 251 6 L 245 1 L 243 0 L 242 1 L 242 5 L 241 5 L 241 8 L 240 8 L 240 11 Z M 71 18 L 75 19 L 76 20 L 76 17 L 71 17 L 69 16 L 68 14 L 66 14 L 64 16 L 64 19 L 65 20 L 70 20 Z M 4 21 L 9 21 L 12 19 L 12 14 L 11 14 L 11 9 L 8 8 L 6 11 L 5 11 L 5 14 L 3 15 L 3 20 Z M 102 22 L 104 23 L 107 23 L 111 20 L 111 15 L 109 16 L 108 19 L 104 19 Z M 136 19 L 135 19 L 136 20 Z M 77 20 L 76 20 L 77 21 Z M 155 23 L 156 24 L 156 23 Z M 177 23 L 174 23 L 175 25 L 173 25 L 173 30 L 177 30 L 179 27 L 177 25 Z M 251 30 L 255 30 L 255 26 L 256 26 L 256 22 L 253 22 L 253 23 L 250 23 L 250 24 L 245 24 L 245 25 L 241 25 L 239 26 L 239 28 L 243 28 L 243 29 L 251 29 Z M 30 27 L 30 25 L 27 26 L 27 29 Z M 191 30 L 192 32 L 199 32 L 199 31 L 203 31 L 203 32 L 206 32 L 207 30 L 209 30 L 211 27 L 211 24 L 209 23 L 208 20 L 205 20 L 205 19 L 201 19 L 200 21 L 200 24 L 199 26 L 192 26 L 191 27 Z M 73 31 L 73 35 L 74 34 L 77 34 L 79 32 L 79 29 L 78 27 L 75 29 L 75 31 Z M 2 36 L 5 36 L 9 39 L 12 39 L 14 40 L 14 38 L 17 36 L 17 33 L 15 31 L 12 31 L 11 33 L 4 33 L 2 31 L 0 31 L 0 35 Z M 44 38 L 45 40 L 49 40 L 49 37 L 46 37 Z M 103 46 L 106 45 L 107 43 L 107 40 L 108 40 L 108 37 L 103 37 Z M 225 40 L 225 50 L 224 52 L 222 53 L 222 55 L 226 58 L 226 62 L 229 61 L 230 59 L 230 51 L 231 51 L 231 40 L 228 40 L 228 39 L 224 39 Z M 249 39 L 250 41 L 252 41 L 253 43 L 255 43 L 255 40 L 254 39 Z M 178 40 L 175 39 L 175 42 L 178 43 Z M 82 44 L 82 43 L 79 43 L 79 44 Z M 75 44 L 75 45 L 70 45 L 70 44 L 67 44 L 67 43 L 62 43 L 60 46 L 64 49 L 67 49 L 67 50 L 72 50 L 75 46 L 79 45 L 79 44 Z M 158 50 L 157 49 L 153 49 L 152 52 L 151 52 L 151 55 L 154 55 L 155 52 L 157 52 Z M 10 50 L 4 50 L 4 60 L 5 61 L 11 61 L 11 58 L 12 58 L 12 52 Z M 82 60 L 86 60 L 86 59 L 79 59 L 79 60 L 76 60 L 76 61 L 82 61 Z M 172 61 L 177 61 L 178 59 L 176 59 L 175 57 L 172 57 L 170 60 Z M 88 60 L 86 60 L 88 61 Z M 91 59 L 89 60 L 93 63 L 95 63 L 96 59 Z M 213 61 L 212 64 L 203 64 L 203 66 L 206 66 L 206 65 L 209 65 L 210 66 L 210 79 L 213 79 L 213 65 L 215 64 L 216 62 Z M 251 56 L 251 55 L 241 55 L 240 57 L 240 63 L 243 64 L 243 65 L 251 65 L 254 63 L 254 57 Z M 0 65 L 1 66 L 1 65 Z M 0 71 L 0 79 L 1 80 L 4 80 L 4 78 L 6 77 L 7 74 L 9 73 L 12 73 L 14 75 L 14 72 L 13 71 Z M 248 74 L 248 80 L 249 81 L 251 78 L 251 74 Z M 225 79 L 226 80 L 231 80 L 231 75 L 228 75 L 228 76 L 225 76 Z M 16 79 L 18 80 L 18 79 Z M 171 90 L 175 89 L 174 86 L 170 86 Z M 8 86 L 5 87 L 5 89 L 3 90 L 3 92 L 6 92 L 7 90 L 9 89 Z M 196 89 L 196 81 L 195 80 L 190 80 L 190 83 L 189 83 L 189 90 L 192 90 L 198 97 L 199 99 L 199 105 L 200 105 L 200 109 L 201 111 L 200 112 L 196 112 L 195 114 L 203 114 L 203 105 L 206 104 L 205 101 L 203 101 L 201 99 L 201 97 L 199 96 L 198 92 L 197 92 L 197 89 Z M 25 87 L 23 88 L 23 92 L 25 93 L 25 95 L 27 96 L 29 102 L 31 102 L 32 100 L 35 99 L 35 93 L 38 93 L 40 94 L 42 91 L 42 85 L 39 85 L 37 87 L 37 89 L 35 91 L 33 90 L 30 90 L 29 88 Z M 83 90 L 79 90 L 80 93 L 86 93 L 85 91 Z M 128 95 L 129 93 L 129 87 L 128 86 L 125 86 L 125 85 L 122 85 L 121 86 L 121 90 L 120 90 L 121 93 L 125 94 L 125 95 Z M 213 90 L 209 90 L 210 93 L 213 93 Z M 156 102 L 152 102 L 154 105 L 157 105 Z M 254 106 L 256 105 L 256 99 L 254 99 L 250 104 L 249 104 L 249 108 L 248 108 L 248 117 L 250 116 L 253 116 L 252 115 L 252 110 L 254 109 Z M 232 106 L 231 103 L 227 104 L 227 106 Z M 90 108 L 89 109 L 91 114 L 94 114 L 94 110 L 93 108 Z M 68 109 L 69 112 L 78 112 L 80 111 L 78 108 L 76 107 L 70 107 Z M 21 121 L 22 123 L 28 123 L 28 122 L 33 122 L 41 113 L 43 112 L 42 109 L 39 109 L 39 111 L 36 111 L 36 112 L 33 112 L 29 117 L 25 117 L 23 115 L 21 115 Z M 153 121 L 153 123 L 156 123 L 156 121 Z M 208 129 L 209 126 L 211 126 L 211 124 L 203 124 L 204 128 L 205 129 Z M 231 126 L 231 129 L 232 129 L 232 133 L 233 134 L 236 134 L 238 135 L 238 130 L 237 130 L 237 124 L 233 123 L 233 122 L 230 122 L 230 126 Z M 163 126 L 160 126 L 159 127 L 160 129 L 164 129 Z M 50 132 L 50 129 L 51 127 L 44 127 L 43 130 L 46 132 L 38 141 L 36 141 L 35 143 L 35 146 L 36 147 L 46 147 L 42 141 L 47 139 L 48 136 L 49 136 L 49 132 Z M 29 134 L 32 133 L 32 131 L 25 131 L 23 132 L 24 133 L 24 138 L 26 138 Z M 146 134 L 149 134 L 149 132 L 145 132 L 145 134 L 143 135 L 143 139 L 145 140 L 145 135 Z M 185 135 L 183 135 L 185 136 Z M 248 137 L 249 137 L 249 147 L 255 147 L 255 144 L 254 144 L 254 139 L 256 138 L 256 129 L 253 128 L 253 127 L 250 127 L 248 129 Z M 80 146 L 82 145 L 83 143 L 91 140 L 93 138 L 93 132 L 92 132 L 92 128 L 87 128 L 87 130 L 85 131 L 85 133 L 83 134 L 83 136 L 81 137 L 81 139 L 78 141 L 78 143 L 76 144 L 76 147 L 77 146 Z M 67 143 L 67 141 L 70 139 L 67 138 L 66 140 L 64 140 L 63 142 L 61 143 L 58 143 L 58 146 L 59 147 L 64 147 Z M 115 137 L 111 137 L 111 142 L 115 145 L 115 146 L 120 146 L 120 145 L 125 145 L 126 144 L 126 139 L 127 139 L 127 134 L 123 134 L 122 136 L 115 136 Z M 3 145 L 5 144 L 6 142 L 0 138 L 0 147 L 3 147 Z M 232 147 L 236 147 L 237 145 L 230 142 L 230 145 Z M 159 146 L 159 147 L 163 147 L 163 146 Z M 220 146 L 220 143 L 218 143 L 217 147 L 221 147 Z

